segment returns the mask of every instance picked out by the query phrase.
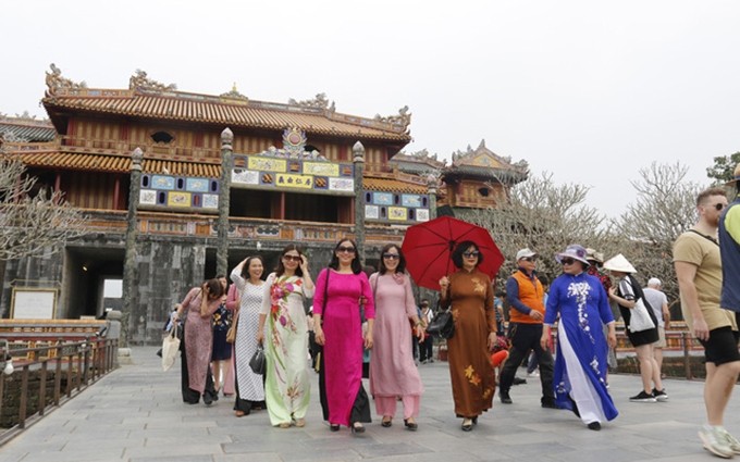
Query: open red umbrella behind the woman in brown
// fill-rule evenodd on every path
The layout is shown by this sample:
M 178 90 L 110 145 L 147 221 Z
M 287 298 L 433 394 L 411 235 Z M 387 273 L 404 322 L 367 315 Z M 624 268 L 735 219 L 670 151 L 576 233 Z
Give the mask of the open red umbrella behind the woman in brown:
M 491 279 L 504 263 L 504 255 L 488 229 L 451 216 L 440 216 L 406 229 L 402 250 L 406 269 L 417 286 L 440 290 L 440 279 L 457 271 L 453 250 L 459 242 L 471 240 L 483 254 L 478 266 Z

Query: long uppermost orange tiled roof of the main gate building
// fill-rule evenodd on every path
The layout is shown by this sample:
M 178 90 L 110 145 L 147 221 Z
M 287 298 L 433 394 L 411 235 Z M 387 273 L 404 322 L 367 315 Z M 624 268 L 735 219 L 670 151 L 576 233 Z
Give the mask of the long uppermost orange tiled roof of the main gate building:
M 78 110 L 148 118 L 190 121 L 224 127 L 284 129 L 309 134 L 394 140 L 407 143 L 406 127 L 341 114 L 323 108 L 238 100 L 182 91 L 60 89 L 42 100 L 52 120 L 55 110 Z

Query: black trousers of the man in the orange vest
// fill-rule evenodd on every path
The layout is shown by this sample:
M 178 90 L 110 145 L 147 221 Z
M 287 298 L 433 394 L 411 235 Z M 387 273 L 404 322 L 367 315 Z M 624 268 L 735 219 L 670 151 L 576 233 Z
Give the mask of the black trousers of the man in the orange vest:
M 504 370 L 501 372 L 501 390 L 508 392 L 514 383 L 517 367 L 521 364 L 521 361 L 527 354 L 529 354 L 529 350 L 532 350 L 540 363 L 542 397 L 554 398 L 553 355 L 540 345 L 540 339 L 542 338 L 542 324 L 511 323 L 509 325 L 509 337 L 511 338 L 511 348 L 509 349 L 509 357 L 506 360 L 506 363 L 504 363 Z

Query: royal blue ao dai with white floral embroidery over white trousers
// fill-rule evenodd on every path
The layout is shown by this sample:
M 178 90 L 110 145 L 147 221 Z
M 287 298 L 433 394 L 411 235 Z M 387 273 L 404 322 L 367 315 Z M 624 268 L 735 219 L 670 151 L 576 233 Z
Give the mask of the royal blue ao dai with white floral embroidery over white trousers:
M 618 412 L 606 390 L 608 347 L 602 323 L 614 316 L 601 282 L 585 273 L 555 278 L 544 323 L 554 324 L 558 315 L 555 402 L 572 410 L 575 401 L 585 424 L 613 420 Z

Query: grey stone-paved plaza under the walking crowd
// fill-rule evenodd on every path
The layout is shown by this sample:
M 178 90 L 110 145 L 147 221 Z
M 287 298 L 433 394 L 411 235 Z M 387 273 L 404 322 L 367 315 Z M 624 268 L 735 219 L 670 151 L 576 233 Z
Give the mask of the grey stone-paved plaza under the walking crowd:
M 207 408 L 180 395 L 180 366 L 162 372 L 157 348 L 132 351 L 122 365 L 79 397 L 0 448 L 2 462 L 85 461 L 701 461 L 701 382 L 666 380 L 668 402 L 632 403 L 640 379 L 613 375 L 620 415 L 592 432 L 569 411 L 540 408 L 539 379 L 511 389 L 514 404 L 484 414 L 471 433 L 454 417 L 446 363 L 420 365 L 425 392 L 419 430 L 396 416 L 391 428 L 372 424 L 361 436 L 331 433 L 321 421 L 318 386 L 304 428 L 273 428 L 264 411 L 236 419 L 233 399 Z M 519 372 L 522 376 L 523 372 Z M 366 384 L 367 386 L 367 384 Z M 740 395 L 730 402 L 727 428 L 740 436 Z M 399 411 L 400 412 L 400 411 Z M 400 415 L 400 414 L 398 414 Z

